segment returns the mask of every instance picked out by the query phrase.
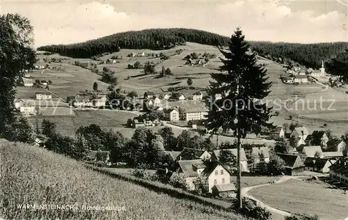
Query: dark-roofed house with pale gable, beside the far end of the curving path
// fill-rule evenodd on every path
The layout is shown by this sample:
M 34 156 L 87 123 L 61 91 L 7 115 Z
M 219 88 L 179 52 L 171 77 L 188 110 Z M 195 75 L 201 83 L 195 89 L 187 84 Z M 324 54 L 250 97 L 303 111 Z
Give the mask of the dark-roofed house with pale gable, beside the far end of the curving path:
M 285 175 L 301 175 L 305 165 L 299 155 L 277 154 L 285 162 Z

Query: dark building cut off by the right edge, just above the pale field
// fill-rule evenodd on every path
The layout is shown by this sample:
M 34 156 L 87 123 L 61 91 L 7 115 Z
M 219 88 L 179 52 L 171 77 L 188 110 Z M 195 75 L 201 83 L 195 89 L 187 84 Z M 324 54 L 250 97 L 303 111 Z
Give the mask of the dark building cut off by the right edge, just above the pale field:
M 338 159 L 331 165 L 330 178 L 348 187 L 348 157 Z

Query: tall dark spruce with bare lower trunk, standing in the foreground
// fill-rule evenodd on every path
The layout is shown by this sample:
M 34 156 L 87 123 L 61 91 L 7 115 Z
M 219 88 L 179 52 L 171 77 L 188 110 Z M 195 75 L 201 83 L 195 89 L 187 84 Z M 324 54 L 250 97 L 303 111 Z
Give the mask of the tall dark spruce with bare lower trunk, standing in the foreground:
M 271 83 L 267 82 L 267 70 L 257 64 L 255 53 L 249 52 L 242 30 L 230 38 L 228 50 L 220 49 L 225 58 L 220 73 L 213 73 L 208 89 L 210 97 L 207 129 L 217 132 L 232 129 L 237 134 L 237 199 L 242 208 L 240 143 L 248 133 L 258 134 L 263 127 L 274 127 L 268 123 L 271 107 L 258 100 L 269 94 Z M 218 98 L 216 95 L 219 95 Z

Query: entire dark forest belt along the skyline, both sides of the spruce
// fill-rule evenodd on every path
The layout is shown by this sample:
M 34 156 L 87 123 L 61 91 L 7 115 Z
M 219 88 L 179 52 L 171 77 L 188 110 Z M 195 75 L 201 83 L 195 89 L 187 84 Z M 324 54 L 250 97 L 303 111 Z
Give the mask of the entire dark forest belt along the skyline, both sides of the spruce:
M 228 41 L 229 37 L 196 29 L 146 29 L 116 33 L 72 45 L 48 45 L 39 47 L 38 50 L 89 58 L 105 52 L 118 52 L 120 49 L 169 49 L 175 45 L 184 45 L 185 42 L 226 46 Z M 322 60 L 328 61 L 348 48 L 348 42 L 299 44 L 253 41 L 250 44 L 261 56 L 277 61 L 280 58 L 285 64 L 294 61 L 308 68 L 319 68 Z

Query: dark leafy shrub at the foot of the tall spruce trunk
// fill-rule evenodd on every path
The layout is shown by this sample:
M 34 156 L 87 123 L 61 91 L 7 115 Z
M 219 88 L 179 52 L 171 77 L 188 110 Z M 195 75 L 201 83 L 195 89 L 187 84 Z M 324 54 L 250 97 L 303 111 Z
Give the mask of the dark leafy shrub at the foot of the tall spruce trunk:
M 259 219 L 259 220 L 271 219 L 271 212 L 269 212 L 263 207 L 255 205 L 253 201 L 251 201 L 249 198 L 243 198 L 242 204 L 243 204 L 242 210 L 239 210 L 238 203 L 234 203 L 232 205 L 232 209 L 239 212 L 239 214 L 244 215 L 244 217 Z

